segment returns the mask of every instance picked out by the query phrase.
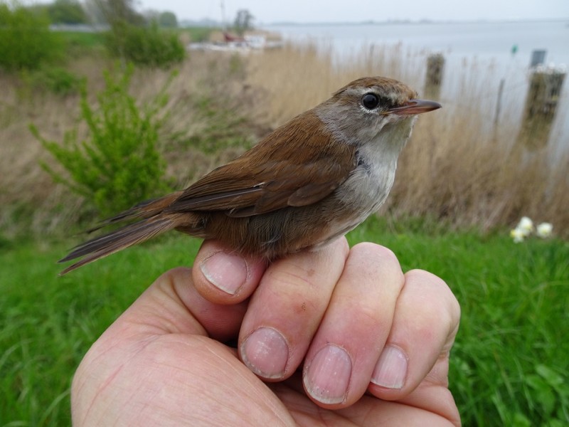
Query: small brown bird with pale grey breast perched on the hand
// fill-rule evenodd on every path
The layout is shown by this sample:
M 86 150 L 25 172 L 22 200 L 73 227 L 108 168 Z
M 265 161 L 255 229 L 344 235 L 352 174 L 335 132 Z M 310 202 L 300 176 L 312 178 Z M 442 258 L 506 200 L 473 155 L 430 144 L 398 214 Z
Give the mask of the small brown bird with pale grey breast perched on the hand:
M 440 107 L 393 78 L 353 80 L 186 189 L 103 221 L 91 231 L 124 225 L 60 274 L 173 229 L 267 261 L 318 250 L 379 209 L 418 115 Z

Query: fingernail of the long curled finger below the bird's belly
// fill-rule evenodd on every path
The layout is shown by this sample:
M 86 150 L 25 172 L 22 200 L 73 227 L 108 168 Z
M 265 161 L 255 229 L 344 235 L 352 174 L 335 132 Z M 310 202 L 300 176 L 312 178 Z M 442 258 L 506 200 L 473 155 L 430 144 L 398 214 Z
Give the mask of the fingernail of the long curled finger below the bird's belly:
M 241 344 L 241 359 L 263 378 L 281 378 L 289 359 L 285 337 L 272 327 L 260 327 Z

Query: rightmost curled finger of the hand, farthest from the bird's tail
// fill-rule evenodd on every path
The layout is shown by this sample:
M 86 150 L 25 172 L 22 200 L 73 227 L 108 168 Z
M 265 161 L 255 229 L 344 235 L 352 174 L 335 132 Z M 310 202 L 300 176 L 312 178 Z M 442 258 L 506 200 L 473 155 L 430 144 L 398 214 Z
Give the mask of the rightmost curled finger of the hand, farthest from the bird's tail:
M 459 320 L 459 304 L 443 280 L 422 270 L 407 273 L 388 341 L 373 371 L 371 394 L 400 400 L 422 383 L 446 389 Z

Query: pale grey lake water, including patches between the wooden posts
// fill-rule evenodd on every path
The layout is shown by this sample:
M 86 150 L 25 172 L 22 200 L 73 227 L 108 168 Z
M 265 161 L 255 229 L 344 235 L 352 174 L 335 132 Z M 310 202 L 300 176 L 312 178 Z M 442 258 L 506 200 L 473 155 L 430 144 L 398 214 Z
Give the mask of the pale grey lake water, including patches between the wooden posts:
M 287 41 L 312 41 L 317 46 L 331 46 L 335 60 L 349 58 L 353 52 L 371 44 L 397 45 L 418 53 L 424 61 L 429 53 L 443 53 L 445 75 L 441 101 L 445 107 L 460 105 L 459 84 L 464 80 L 464 63 L 477 64 L 490 73 L 491 79 L 480 79 L 480 90 L 488 100 L 486 110 L 492 122 L 504 79 L 501 120 L 521 121 L 528 90 L 528 66 L 534 50 L 546 50 L 546 64 L 558 68 L 569 65 L 569 19 L 539 22 L 472 22 L 472 23 L 376 23 L 273 25 L 267 31 L 277 32 Z M 515 48 L 514 48 L 515 46 Z M 415 64 L 417 65 L 417 64 Z M 415 66 L 413 65 L 413 66 Z M 470 78 L 470 76 L 469 76 Z M 569 77 L 565 78 L 559 107 L 550 133 L 553 152 L 569 151 Z

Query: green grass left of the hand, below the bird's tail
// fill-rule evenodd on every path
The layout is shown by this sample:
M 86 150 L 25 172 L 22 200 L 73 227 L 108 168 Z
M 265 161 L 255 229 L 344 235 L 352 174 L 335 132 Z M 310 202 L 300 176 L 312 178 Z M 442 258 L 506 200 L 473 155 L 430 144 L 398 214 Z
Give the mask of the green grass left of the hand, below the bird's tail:
M 161 272 L 189 264 L 199 242 L 173 243 L 135 248 L 63 278 L 54 261 L 65 245 L 5 243 L 0 259 L 11 268 L 0 284 L 0 426 L 70 425 L 70 379 L 85 351 Z

